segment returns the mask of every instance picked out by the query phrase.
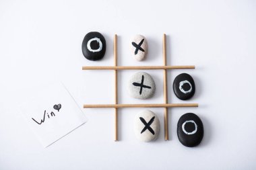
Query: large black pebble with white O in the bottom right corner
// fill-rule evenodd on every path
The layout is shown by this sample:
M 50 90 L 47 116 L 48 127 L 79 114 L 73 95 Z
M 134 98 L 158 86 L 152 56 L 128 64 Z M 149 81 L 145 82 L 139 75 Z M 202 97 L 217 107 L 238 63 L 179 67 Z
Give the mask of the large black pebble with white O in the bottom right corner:
M 183 114 L 177 125 L 178 138 L 184 146 L 193 147 L 203 139 L 203 123 L 192 113 Z

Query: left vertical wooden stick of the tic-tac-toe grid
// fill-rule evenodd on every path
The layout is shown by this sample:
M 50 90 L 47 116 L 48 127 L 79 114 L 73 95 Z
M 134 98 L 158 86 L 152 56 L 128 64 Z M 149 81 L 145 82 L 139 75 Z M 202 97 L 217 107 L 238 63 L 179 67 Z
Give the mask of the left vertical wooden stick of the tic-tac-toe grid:
M 117 34 L 114 36 L 114 65 L 117 67 Z M 117 70 L 115 70 L 115 104 L 117 104 Z M 115 141 L 118 141 L 118 113 L 115 108 Z

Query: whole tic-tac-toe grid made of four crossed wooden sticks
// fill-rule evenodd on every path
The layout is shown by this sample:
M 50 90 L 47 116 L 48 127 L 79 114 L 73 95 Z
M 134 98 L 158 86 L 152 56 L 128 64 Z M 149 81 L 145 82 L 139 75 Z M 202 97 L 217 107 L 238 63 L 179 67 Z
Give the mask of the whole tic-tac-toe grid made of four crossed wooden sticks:
M 115 141 L 118 141 L 118 108 L 164 108 L 164 139 L 168 140 L 168 108 L 198 107 L 198 103 L 168 103 L 167 70 L 168 69 L 195 69 L 195 66 L 167 66 L 166 65 L 166 34 L 162 37 L 162 66 L 117 66 L 117 34 L 114 36 L 114 66 L 82 67 L 83 70 L 113 70 L 115 71 L 115 103 L 84 105 L 84 108 L 115 108 Z M 164 103 L 152 104 L 121 104 L 118 103 L 118 70 L 158 70 L 164 71 Z

